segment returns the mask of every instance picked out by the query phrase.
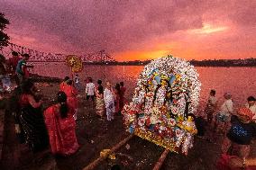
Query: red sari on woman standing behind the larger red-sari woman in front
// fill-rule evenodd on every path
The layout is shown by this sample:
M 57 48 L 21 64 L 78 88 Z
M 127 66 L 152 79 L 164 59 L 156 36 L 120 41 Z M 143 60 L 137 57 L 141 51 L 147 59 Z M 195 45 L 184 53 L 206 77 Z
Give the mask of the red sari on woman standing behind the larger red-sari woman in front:
M 67 103 L 69 108 L 78 109 L 78 91 L 72 85 L 64 85 L 63 92 L 67 95 Z

